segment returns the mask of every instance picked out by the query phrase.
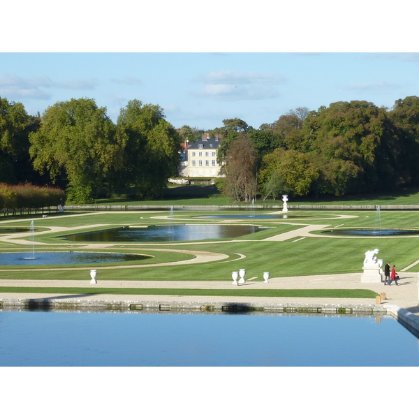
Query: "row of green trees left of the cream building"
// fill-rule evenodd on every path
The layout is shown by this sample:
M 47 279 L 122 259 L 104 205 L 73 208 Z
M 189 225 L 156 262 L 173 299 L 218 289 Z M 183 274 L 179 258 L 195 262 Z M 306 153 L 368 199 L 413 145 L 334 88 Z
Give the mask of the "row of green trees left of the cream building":
M 180 142 L 163 110 L 138 100 L 114 124 L 89 98 L 55 103 L 37 117 L 0 98 L 0 182 L 60 186 L 69 203 L 90 203 L 101 188 L 159 196 L 177 171 Z

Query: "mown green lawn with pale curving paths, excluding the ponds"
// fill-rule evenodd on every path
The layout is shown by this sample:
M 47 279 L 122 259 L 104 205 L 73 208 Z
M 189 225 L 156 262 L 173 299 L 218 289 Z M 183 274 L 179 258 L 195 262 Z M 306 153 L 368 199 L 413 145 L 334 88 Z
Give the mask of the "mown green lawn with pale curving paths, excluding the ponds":
M 207 199 L 209 202 L 211 198 Z M 277 212 L 274 210 L 273 212 Z M 262 279 L 263 272 L 270 272 L 271 277 L 293 277 L 314 274 L 344 274 L 362 272 L 365 251 L 379 249 L 378 258 L 390 262 L 402 270 L 419 260 L 419 237 L 327 237 L 320 231 L 313 235 L 295 233 L 286 240 L 269 241 L 270 237 L 293 232 L 308 225 L 336 228 L 418 228 L 419 212 L 416 211 L 291 211 L 288 219 L 203 219 L 200 216 L 215 214 L 213 210 L 175 210 L 173 218 L 167 211 L 140 212 L 84 212 L 55 214 L 43 219 L 41 216 L 1 217 L 8 221 L 7 227 L 28 226 L 35 220 L 35 251 L 123 251 L 138 252 L 152 256 L 152 259 L 138 263 L 107 263 L 99 265 L 61 266 L 61 270 L 47 270 L 47 267 L 1 266 L 0 279 L 62 279 L 86 281 L 89 270 L 98 270 L 98 281 L 107 280 L 149 280 L 149 281 L 231 281 L 231 272 L 246 269 L 246 278 Z M 238 214 L 247 212 L 219 210 L 216 214 Z M 266 211 L 256 211 L 267 214 Z M 9 222 L 10 221 L 10 222 Z M 265 227 L 258 233 L 248 234 L 233 239 L 200 240 L 198 242 L 69 242 L 63 236 L 90 230 L 117 228 L 120 226 L 147 227 L 172 224 L 254 224 Z M 1 222 L 0 222 L 1 227 Z M 57 229 L 57 231 L 54 231 Z M 23 242 L 5 241 L 0 235 L 0 253 L 10 251 L 29 251 L 31 234 L 22 236 Z M 18 237 L 15 233 L 13 237 Z M 418 235 L 419 236 L 419 235 Z M 87 249 L 87 244 L 93 246 Z M 109 246 L 109 248 L 105 248 Z M 172 252 L 175 250 L 176 252 Z M 195 258 L 184 251 L 202 251 L 222 253 L 226 258 L 204 263 L 187 263 Z M 182 261 L 182 265 L 170 265 Z M 150 265 L 152 263 L 153 265 Z M 169 265 L 158 265 L 169 264 Z M 128 267 L 129 265 L 129 267 Z M 58 266 L 50 265 L 51 268 Z M 110 267 L 112 269 L 105 269 Z M 408 272 L 417 272 L 419 265 Z M 86 288 L 91 293 L 91 288 Z M 95 292 L 100 288 L 95 288 Z M 28 288 L 24 288 L 28 291 Z M 106 288 L 109 293 L 109 288 Z M 167 290 L 166 290 L 167 291 Z M 164 291 L 164 292 L 166 292 Z M 2 291 L 6 292 L 6 291 Z M 48 292 L 57 292 L 48 291 Z M 60 288 L 60 293 L 63 291 Z M 80 291 L 74 291 L 79 293 Z M 117 292 L 117 291 L 115 291 Z M 129 291 L 131 293 L 133 291 Z M 135 292 L 145 292 L 135 291 Z M 153 291 L 155 293 L 155 291 Z M 163 292 L 163 291 L 162 291 Z M 179 295 L 179 290 L 176 295 Z M 182 291 L 183 292 L 183 291 Z M 186 291 L 185 291 L 186 292 Z M 198 291 L 190 291 L 198 292 Z M 232 290 L 245 295 L 244 290 Z M 248 291 L 246 291 L 248 292 Z M 271 291 L 269 291 L 271 292 Z M 73 293 L 73 291 L 71 291 Z M 124 290 L 128 293 L 128 290 Z M 185 294 L 187 295 L 187 294 Z M 205 295 L 205 294 L 200 294 Z M 226 294 L 222 294 L 226 295 Z

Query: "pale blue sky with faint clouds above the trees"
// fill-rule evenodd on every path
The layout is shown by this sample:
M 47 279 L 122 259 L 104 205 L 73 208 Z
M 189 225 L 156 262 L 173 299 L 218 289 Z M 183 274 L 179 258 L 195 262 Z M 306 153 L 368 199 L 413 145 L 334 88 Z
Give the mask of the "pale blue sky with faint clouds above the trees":
M 253 128 L 297 107 L 337 101 L 391 108 L 419 96 L 419 54 L 288 52 L 55 52 L 0 54 L 0 96 L 31 115 L 71 98 L 92 98 L 117 121 L 128 101 L 163 108 L 175 128 Z

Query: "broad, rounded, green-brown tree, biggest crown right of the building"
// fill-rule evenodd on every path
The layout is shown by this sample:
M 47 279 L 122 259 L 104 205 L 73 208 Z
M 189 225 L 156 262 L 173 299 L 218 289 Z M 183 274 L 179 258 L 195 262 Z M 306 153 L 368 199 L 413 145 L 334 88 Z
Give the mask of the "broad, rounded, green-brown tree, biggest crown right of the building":
M 337 102 L 310 112 L 304 138 L 320 168 L 318 193 L 362 193 L 397 186 L 404 143 L 385 108 L 366 101 Z

